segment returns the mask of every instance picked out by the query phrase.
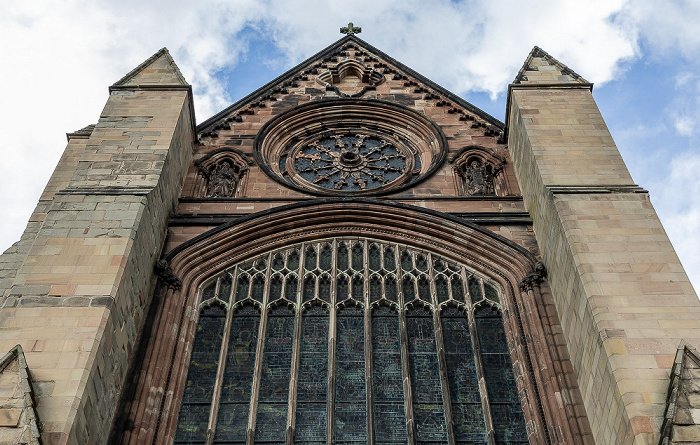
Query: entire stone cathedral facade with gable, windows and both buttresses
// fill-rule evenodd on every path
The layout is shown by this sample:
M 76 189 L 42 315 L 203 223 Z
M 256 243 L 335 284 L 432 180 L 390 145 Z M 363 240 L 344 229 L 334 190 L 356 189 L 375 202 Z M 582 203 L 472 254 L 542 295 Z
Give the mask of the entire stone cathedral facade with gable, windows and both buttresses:
M 700 443 L 700 303 L 535 48 L 506 122 L 354 35 L 205 122 L 163 49 L 0 256 L 0 442 Z

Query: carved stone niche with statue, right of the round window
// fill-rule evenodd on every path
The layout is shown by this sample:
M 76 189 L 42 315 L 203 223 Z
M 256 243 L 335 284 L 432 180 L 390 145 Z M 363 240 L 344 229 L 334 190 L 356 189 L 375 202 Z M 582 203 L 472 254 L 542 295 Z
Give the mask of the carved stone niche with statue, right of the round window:
M 462 196 L 507 196 L 510 194 L 505 178 L 505 158 L 478 146 L 464 147 L 450 160 L 455 187 Z

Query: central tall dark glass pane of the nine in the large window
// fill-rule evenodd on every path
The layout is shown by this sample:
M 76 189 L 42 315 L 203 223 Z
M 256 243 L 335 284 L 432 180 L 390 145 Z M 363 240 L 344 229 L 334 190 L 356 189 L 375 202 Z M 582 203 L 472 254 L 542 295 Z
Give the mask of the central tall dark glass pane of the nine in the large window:
M 365 326 L 361 308 L 338 311 L 335 440 L 367 441 Z

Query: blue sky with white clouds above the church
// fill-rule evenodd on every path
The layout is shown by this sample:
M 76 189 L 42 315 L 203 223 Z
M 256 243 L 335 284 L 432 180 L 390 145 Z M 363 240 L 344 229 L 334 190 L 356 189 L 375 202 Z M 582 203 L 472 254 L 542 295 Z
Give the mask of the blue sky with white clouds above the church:
M 700 289 L 697 0 L 0 0 L 0 251 L 19 239 L 107 87 L 168 47 L 198 122 L 330 45 L 359 37 L 503 120 L 538 45 L 595 83 L 635 181 Z

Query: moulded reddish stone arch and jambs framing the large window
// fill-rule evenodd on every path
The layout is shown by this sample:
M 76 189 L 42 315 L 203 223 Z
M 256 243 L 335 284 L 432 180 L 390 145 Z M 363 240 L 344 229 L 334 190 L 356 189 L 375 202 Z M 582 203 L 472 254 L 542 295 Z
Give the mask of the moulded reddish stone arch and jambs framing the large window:
M 222 225 L 179 246 L 161 262 L 149 322 L 115 422 L 115 443 L 169 444 L 177 423 L 197 326 L 201 284 L 231 265 L 273 249 L 328 238 L 371 238 L 434 252 L 463 264 L 503 292 L 507 344 L 531 444 L 583 444 L 574 413 L 575 381 L 565 380 L 543 295 L 548 286 L 524 248 L 482 227 L 414 206 L 369 199 L 292 204 Z M 177 277 L 177 278 L 175 278 Z M 483 303 L 482 303 L 483 304 Z M 574 379 L 575 380 L 575 379 Z

